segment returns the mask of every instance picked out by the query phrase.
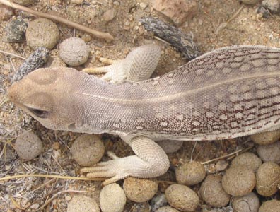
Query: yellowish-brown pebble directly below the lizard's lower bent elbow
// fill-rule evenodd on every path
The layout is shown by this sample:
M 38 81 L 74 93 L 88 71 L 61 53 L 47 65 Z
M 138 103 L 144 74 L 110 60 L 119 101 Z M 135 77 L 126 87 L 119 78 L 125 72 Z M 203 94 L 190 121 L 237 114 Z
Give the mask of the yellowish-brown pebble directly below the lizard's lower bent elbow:
M 148 201 L 158 192 L 158 184 L 150 179 L 127 177 L 123 187 L 127 198 L 135 202 Z

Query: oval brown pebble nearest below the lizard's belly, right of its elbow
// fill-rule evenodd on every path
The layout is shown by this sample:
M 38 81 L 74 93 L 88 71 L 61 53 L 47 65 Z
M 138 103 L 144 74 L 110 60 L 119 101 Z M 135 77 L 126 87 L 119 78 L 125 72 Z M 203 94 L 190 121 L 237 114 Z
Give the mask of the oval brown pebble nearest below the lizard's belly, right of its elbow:
M 184 163 L 176 169 L 177 182 L 187 186 L 192 186 L 202 182 L 205 176 L 206 171 L 204 166 L 197 161 Z

